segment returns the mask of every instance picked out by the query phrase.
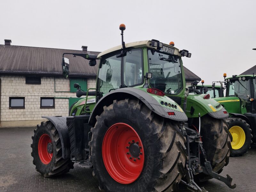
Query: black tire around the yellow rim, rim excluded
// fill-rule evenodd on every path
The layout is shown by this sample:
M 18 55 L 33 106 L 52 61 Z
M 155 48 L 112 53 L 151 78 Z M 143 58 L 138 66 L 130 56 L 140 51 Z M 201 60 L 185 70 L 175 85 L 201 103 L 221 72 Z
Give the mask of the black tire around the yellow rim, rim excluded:
M 252 143 L 252 130 L 250 129 L 249 124 L 247 124 L 246 121 L 244 121 L 243 119 L 236 117 L 230 117 L 225 120 L 229 127 L 228 130 L 233 126 L 239 126 L 244 130 L 245 133 L 244 145 L 239 149 L 232 149 L 232 153 L 230 156 L 236 157 L 244 155 L 244 153 L 247 153 L 248 149 L 251 148 Z

